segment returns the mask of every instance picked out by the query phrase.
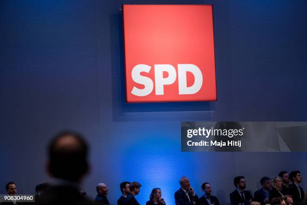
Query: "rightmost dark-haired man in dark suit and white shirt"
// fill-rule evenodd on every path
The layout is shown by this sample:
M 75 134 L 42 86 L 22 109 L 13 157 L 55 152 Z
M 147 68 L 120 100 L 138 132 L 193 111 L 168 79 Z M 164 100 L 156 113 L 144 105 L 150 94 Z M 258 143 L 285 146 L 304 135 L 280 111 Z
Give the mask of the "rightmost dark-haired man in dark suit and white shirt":
M 289 178 L 292 181 L 292 184 L 289 186 L 289 195 L 292 196 L 293 202 L 300 202 L 304 199 L 304 190 L 299 186 L 299 183 L 302 181 L 302 177 L 299 171 L 291 171 Z

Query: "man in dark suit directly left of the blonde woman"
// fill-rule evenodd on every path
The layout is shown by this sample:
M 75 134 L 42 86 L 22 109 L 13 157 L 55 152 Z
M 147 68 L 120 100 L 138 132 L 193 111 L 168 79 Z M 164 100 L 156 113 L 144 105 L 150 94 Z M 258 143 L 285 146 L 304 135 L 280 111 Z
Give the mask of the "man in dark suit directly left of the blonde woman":
M 269 195 L 271 191 L 271 179 L 269 177 L 262 177 L 260 179 L 261 188 L 254 193 L 254 200 L 259 201 L 261 205 L 269 203 Z

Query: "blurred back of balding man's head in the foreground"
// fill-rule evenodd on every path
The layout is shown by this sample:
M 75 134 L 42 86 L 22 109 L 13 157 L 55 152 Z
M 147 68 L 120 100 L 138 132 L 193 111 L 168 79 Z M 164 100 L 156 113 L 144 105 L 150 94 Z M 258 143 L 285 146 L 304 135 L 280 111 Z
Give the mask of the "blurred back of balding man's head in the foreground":
M 78 181 L 88 170 L 87 153 L 88 146 L 79 133 L 62 131 L 48 147 L 49 171 L 54 177 Z

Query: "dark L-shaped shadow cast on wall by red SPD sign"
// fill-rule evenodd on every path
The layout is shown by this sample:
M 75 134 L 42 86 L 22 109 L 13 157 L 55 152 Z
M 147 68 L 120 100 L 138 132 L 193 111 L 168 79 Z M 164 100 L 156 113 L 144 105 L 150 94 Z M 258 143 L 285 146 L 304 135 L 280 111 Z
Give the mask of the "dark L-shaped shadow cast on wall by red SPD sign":
M 125 101 L 125 73 L 122 14 L 110 15 L 112 115 L 113 121 L 180 120 L 193 116 L 195 120 L 210 120 L 215 102 L 155 102 L 130 104 Z M 160 112 L 171 112 L 161 114 Z M 176 112 L 176 113 L 175 113 Z M 201 112 L 192 114 L 191 112 Z M 147 113 L 147 115 L 142 115 Z M 148 113 L 150 117 L 148 118 Z M 197 117 L 197 115 L 199 115 Z M 159 117 L 158 117 L 159 116 Z M 165 116 L 165 117 L 163 117 Z M 128 117 L 128 119 L 126 119 Z

